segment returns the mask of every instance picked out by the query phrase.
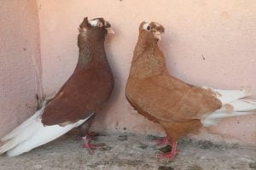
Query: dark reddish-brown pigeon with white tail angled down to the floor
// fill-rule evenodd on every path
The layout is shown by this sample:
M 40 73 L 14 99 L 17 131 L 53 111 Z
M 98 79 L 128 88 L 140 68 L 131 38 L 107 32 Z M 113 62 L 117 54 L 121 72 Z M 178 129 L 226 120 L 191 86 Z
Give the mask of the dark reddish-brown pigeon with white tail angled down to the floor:
M 5 135 L 0 155 L 19 156 L 82 126 L 89 133 L 90 123 L 102 111 L 113 91 L 113 73 L 108 64 L 104 41 L 113 29 L 103 18 L 84 18 L 79 25 L 79 59 L 73 74 L 40 110 Z M 90 136 L 84 147 L 94 149 Z

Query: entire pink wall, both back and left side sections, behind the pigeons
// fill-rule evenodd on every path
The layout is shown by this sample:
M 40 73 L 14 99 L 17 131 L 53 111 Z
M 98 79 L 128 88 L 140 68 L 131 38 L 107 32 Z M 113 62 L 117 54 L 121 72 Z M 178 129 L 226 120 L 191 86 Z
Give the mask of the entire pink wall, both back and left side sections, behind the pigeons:
M 35 111 L 34 96 L 41 94 L 39 29 L 44 93 L 49 96 L 73 72 L 78 59 L 77 27 L 83 17 L 110 20 L 116 35 L 108 37 L 106 48 L 116 87 L 111 105 L 97 116 L 93 128 L 163 134 L 125 99 L 139 23 L 155 20 L 166 27 L 160 47 L 173 75 L 213 88 L 250 85 L 256 98 L 255 14 L 253 0 L 38 0 L 38 8 L 32 0 L 1 1 L 0 137 Z M 255 116 L 232 118 L 202 131 L 197 138 L 256 144 Z

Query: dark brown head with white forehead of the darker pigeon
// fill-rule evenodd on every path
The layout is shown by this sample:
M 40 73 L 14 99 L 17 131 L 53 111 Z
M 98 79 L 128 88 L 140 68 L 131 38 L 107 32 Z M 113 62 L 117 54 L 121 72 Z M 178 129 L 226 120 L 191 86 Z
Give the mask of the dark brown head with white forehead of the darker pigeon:
M 107 20 L 103 18 L 96 18 L 88 20 L 84 18 L 83 22 L 79 26 L 79 32 L 85 33 L 87 36 L 93 37 L 105 37 L 108 34 L 113 34 L 114 31 Z

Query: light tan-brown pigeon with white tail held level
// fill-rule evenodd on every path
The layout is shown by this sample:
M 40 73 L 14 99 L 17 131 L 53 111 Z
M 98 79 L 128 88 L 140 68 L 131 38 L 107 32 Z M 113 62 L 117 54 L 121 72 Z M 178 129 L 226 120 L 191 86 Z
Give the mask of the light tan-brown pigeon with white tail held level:
M 177 153 L 177 139 L 201 127 L 217 125 L 225 117 L 255 114 L 256 99 L 243 99 L 251 95 L 250 88 L 198 87 L 171 76 L 158 46 L 164 31 L 157 22 L 139 26 L 125 95 L 139 114 L 164 128 L 166 138 L 158 144 L 170 144 L 172 150 L 160 158 L 172 159 Z

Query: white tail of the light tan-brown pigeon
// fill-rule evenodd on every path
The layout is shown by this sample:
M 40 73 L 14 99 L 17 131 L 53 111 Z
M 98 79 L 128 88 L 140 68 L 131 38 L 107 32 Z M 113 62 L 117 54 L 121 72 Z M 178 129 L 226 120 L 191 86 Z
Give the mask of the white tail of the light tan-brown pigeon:
M 216 90 L 217 98 L 222 102 L 222 107 L 201 119 L 205 127 L 216 125 L 221 119 L 232 116 L 246 116 L 256 114 L 256 99 L 241 99 L 251 95 L 249 88 L 242 90 Z

